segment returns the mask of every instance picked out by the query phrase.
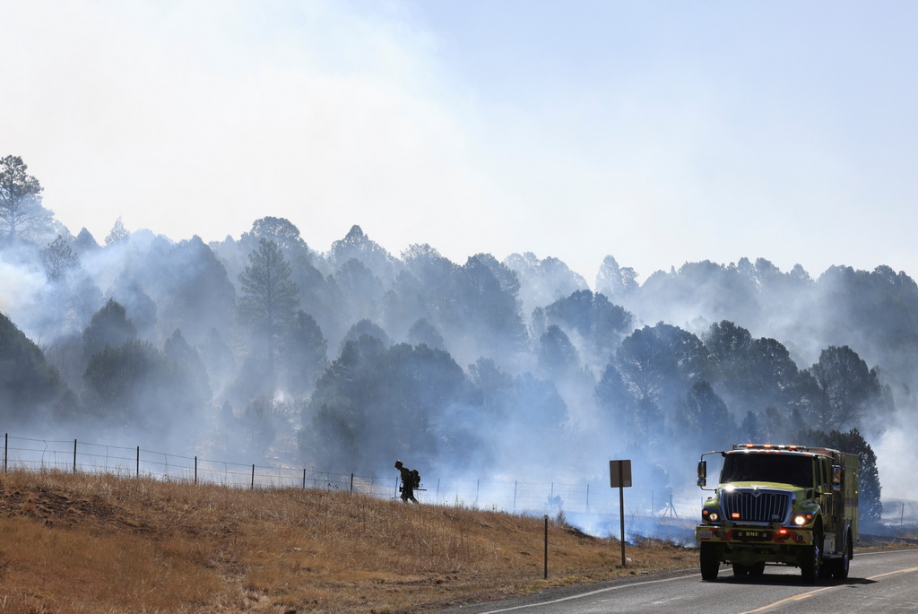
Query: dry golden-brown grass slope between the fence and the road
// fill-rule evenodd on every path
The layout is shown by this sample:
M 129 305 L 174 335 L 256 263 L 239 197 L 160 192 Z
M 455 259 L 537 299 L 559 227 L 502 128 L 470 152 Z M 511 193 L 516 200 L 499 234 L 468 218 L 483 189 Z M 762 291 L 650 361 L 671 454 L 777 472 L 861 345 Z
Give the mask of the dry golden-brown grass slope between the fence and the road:
M 422 612 L 692 567 L 543 519 L 325 490 L 0 474 L 0 612 Z

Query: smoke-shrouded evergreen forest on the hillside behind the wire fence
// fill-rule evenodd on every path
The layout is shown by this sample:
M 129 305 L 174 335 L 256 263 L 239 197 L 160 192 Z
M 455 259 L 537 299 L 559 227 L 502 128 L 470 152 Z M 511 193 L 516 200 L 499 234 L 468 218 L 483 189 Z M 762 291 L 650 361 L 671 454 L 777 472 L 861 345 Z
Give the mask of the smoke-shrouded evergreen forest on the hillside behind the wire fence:
M 879 443 L 918 430 L 918 285 L 887 266 L 740 258 L 642 282 L 610 255 L 588 280 L 538 246 L 451 262 L 353 226 L 322 249 L 284 218 L 211 243 L 118 219 L 100 242 L 3 162 L 9 432 L 542 482 L 633 458 L 680 489 L 733 442 L 837 442 L 861 454 L 879 518 Z

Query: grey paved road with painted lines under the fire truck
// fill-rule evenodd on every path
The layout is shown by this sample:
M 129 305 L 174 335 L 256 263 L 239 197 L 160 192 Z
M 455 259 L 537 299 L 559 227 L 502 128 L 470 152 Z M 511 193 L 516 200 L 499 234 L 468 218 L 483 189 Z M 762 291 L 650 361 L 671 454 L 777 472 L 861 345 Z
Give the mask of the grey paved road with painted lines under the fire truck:
M 564 587 L 506 601 L 440 610 L 439 614 L 838 614 L 918 612 L 918 549 L 856 552 L 845 581 L 800 582 L 796 567 L 766 567 L 759 578 L 714 582 L 699 573 L 632 576 L 592 586 Z

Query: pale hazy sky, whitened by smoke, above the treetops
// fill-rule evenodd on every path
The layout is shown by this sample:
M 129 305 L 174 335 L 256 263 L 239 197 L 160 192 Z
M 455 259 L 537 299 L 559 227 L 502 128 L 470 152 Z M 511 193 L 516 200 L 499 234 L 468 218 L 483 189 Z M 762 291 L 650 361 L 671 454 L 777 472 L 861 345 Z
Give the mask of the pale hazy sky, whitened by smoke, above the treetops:
M 290 219 L 595 280 L 918 275 L 918 5 L 0 0 L 0 155 L 100 242 Z

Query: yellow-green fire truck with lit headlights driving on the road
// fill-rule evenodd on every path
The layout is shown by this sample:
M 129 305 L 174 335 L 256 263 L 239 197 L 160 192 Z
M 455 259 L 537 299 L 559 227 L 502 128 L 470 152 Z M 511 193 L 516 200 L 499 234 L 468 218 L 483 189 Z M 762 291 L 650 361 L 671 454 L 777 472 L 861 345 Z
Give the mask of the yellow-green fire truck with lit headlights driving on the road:
M 707 456 L 722 456 L 716 488 L 707 488 Z M 713 494 L 695 530 L 701 577 L 721 564 L 733 575 L 762 575 L 766 564 L 800 567 L 804 583 L 844 579 L 857 538 L 857 455 L 797 445 L 733 444 L 705 452 L 698 486 Z

